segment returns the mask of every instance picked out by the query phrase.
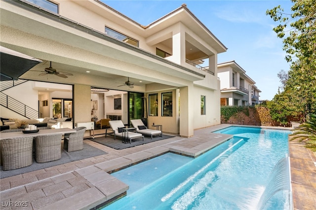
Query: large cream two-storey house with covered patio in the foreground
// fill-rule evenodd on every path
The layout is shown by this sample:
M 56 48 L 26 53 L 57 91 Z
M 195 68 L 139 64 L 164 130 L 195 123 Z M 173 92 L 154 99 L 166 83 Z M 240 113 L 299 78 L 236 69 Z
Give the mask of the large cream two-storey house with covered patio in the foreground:
M 160 124 L 164 132 L 191 137 L 194 129 L 220 124 L 217 54 L 227 48 L 185 4 L 143 26 L 98 0 L 32 2 L 1 1 L 1 46 L 43 61 L 21 79 L 73 85 L 75 123 L 91 120 L 95 87 L 124 91 L 124 124 L 142 117 L 144 99 L 149 127 Z M 73 75 L 39 76 L 50 61 Z M 198 66 L 203 61 L 207 68 Z M 98 104 L 105 118 L 106 109 Z

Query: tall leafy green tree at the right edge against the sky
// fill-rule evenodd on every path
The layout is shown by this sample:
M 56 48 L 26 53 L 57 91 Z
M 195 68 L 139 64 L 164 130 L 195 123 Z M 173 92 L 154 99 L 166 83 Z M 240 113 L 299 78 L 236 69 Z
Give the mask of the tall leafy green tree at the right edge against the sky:
M 286 98 L 286 105 L 295 107 L 287 114 L 302 114 L 305 121 L 316 113 L 316 0 L 292 2 L 292 14 L 284 13 L 280 5 L 266 13 L 280 23 L 273 30 L 283 39 L 285 59 L 291 63 L 284 90 L 277 95 Z M 277 99 L 274 101 L 277 103 Z

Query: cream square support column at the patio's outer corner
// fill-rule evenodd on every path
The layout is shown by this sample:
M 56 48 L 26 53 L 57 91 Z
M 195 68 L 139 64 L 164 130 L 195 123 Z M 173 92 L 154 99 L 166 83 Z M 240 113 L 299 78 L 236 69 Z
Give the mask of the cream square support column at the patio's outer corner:
M 180 136 L 192 137 L 193 128 L 193 83 L 187 87 L 180 88 Z

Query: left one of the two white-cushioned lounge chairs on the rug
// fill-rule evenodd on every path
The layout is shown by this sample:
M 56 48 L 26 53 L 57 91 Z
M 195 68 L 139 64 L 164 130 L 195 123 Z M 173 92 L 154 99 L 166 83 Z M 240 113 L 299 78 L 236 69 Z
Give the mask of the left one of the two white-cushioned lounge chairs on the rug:
M 114 140 L 116 140 L 116 137 L 121 137 L 123 141 L 126 139 L 132 143 L 132 139 L 138 139 L 143 138 L 144 136 L 142 134 L 131 132 L 131 131 L 124 131 L 123 128 L 126 128 L 121 120 L 111 120 L 109 121 L 110 126 L 114 133 Z

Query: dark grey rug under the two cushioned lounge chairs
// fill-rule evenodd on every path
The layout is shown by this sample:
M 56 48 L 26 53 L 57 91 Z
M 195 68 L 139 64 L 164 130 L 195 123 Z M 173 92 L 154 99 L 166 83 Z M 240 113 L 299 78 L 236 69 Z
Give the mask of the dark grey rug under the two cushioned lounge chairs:
M 144 141 L 139 138 L 139 139 L 133 139 L 132 143 L 122 143 L 122 139 L 121 138 L 117 138 L 116 140 L 114 140 L 114 137 L 98 137 L 95 139 L 90 138 L 89 140 L 95 141 L 97 143 L 106 145 L 108 147 L 114 148 L 114 149 L 126 149 L 129 147 L 133 147 L 133 146 L 138 146 L 141 144 L 145 144 L 145 143 L 150 143 L 153 141 L 158 141 L 158 140 L 165 140 L 165 139 L 169 139 L 172 138 L 173 136 L 168 136 L 168 135 L 162 135 L 162 137 L 153 137 L 153 139 L 151 139 L 150 137 L 146 137 L 144 138 Z

